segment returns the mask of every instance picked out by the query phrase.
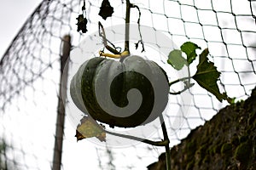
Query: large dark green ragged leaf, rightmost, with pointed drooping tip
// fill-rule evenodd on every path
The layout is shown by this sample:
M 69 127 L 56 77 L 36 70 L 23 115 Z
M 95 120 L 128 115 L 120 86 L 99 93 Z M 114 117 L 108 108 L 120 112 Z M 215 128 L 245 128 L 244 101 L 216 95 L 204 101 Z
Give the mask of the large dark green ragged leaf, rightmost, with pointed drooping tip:
M 229 103 L 231 103 L 232 99 L 230 99 L 227 94 L 220 94 L 219 92 L 217 81 L 220 76 L 220 72 L 218 72 L 216 66 L 214 66 L 213 63 L 208 60 L 208 54 L 208 48 L 206 48 L 200 54 L 199 64 L 197 65 L 197 71 L 193 76 L 193 79 L 202 88 L 205 88 L 208 92 L 214 94 L 220 102 L 223 99 L 226 99 Z

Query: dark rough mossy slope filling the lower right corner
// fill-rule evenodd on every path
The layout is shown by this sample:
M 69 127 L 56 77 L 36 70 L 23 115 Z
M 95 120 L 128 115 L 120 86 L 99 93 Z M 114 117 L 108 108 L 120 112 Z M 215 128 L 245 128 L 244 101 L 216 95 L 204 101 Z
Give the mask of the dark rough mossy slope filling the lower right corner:
M 256 169 L 256 88 L 246 101 L 228 105 L 172 147 L 172 170 Z M 148 170 L 164 170 L 165 153 Z

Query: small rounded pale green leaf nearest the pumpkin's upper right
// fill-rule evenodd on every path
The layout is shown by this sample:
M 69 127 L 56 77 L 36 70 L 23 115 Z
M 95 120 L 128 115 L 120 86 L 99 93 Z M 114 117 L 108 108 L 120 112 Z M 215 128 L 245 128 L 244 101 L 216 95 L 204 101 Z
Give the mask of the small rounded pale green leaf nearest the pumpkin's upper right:
M 173 49 L 170 52 L 167 62 L 177 71 L 181 70 L 183 65 L 187 64 L 187 60 L 183 58 L 182 51 L 178 49 Z

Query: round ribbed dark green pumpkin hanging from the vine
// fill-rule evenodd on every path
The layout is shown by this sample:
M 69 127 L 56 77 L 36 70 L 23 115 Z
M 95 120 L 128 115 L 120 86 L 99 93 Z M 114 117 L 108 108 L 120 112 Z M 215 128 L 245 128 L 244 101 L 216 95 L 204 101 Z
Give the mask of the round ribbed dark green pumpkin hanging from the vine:
M 80 66 L 70 84 L 79 110 L 110 127 L 137 127 L 154 121 L 166 108 L 166 72 L 136 55 L 122 62 L 96 57 Z

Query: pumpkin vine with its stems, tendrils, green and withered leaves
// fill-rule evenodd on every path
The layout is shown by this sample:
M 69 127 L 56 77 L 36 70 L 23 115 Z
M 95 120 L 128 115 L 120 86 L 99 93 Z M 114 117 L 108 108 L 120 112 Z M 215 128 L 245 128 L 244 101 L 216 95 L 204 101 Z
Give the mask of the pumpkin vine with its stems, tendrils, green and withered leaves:
M 99 31 L 99 36 L 102 37 L 102 42 L 104 45 L 104 48 L 107 48 L 108 51 L 112 54 L 106 54 L 104 53 L 104 50 L 101 50 L 99 52 L 100 56 L 105 56 L 105 57 L 110 57 L 110 58 L 115 58 L 115 59 L 124 59 L 126 56 L 130 55 L 130 42 L 129 42 L 129 33 L 130 33 L 130 14 L 131 14 L 131 8 L 137 8 L 139 17 L 137 20 L 137 25 L 138 25 L 138 31 L 139 31 L 139 36 L 140 40 L 135 43 L 136 49 L 138 48 L 139 43 L 143 47 L 143 51 L 145 51 L 144 44 L 143 44 L 143 37 L 141 34 L 140 30 L 140 18 L 141 18 L 141 11 L 140 8 L 133 4 L 130 3 L 130 0 L 126 0 L 126 14 L 125 14 L 125 48 L 124 51 L 121 51 L 121 48 L 115 47 L 112 42 L 108 40 L 105 34 L 104 27 L 102 26 L 102 23 L 98 23 L 98 31 Z M 78 20 L 78 31 L 82 31 L 85 33 L 87 31 L 86 24 L 87 20 L 85 17 L 85 2 L 82 7 L 83 14 L 79 14 L 79 17 L 77 18 Z M 113 14 L 113 7 L 111 7 L 110 3 L 108 0 L 103 0 L 102 1 L 102 6 L 100 8 L 99 15 L 102 16 L 103 20 L 107 20 L 108 17 L 111 17 Z M 108 45 L 110 44 L 110 45 Z M 167 63 L 169 65 L 172 65 L 174 69 L 177 71 L 183 69 L 184 66 L 187 66 L 188 71 L 189 71 L 189 77 L 183 77 L 180 79 L 177 79 L 173 82 L 169 82 L 169 87 L 171 88 L 173 84 L 176 84 L 177 82 L 183 82 L 184 87 L 182 90 L 177 91 L 177 92 L 169 92 L 169 94 L 172 95 L 177 95 L 177 94 L 182 94 L 184 91 L 186 91 L 189 88 L 192 88 L 195 83 L 191 83 L 191 79 L 194 79 L 195 82 L 197 82 L 201 88 L 205 88 L 208 92 L 212 93 L 213 95 L 216 96 L 216 98 L 221 102 L 223 100 L 227 100 L 229 103 L 232 103 L 234 99 L 230 99 L 227 94 L 223 93 L 221 94 L 218 88 L 218 79 L 220 77 L 220 72 L 217 71 L 216 66 L 209 61 L 207 58 L 209 51 L 208 48 L 204 49 L 201 54 L 199 54 L 199 64 L 197 65 L 197 71 L 195 72 L 194 76 L 190 75 L 190 69 L 189 66 L 193 61 L 197 58 L 196 50 L 201 49 L 197 44 L 193 42 L 184 42 L 183 45 L 180 47 L 180 49 L 174 49 L 170 52 L 168 55 Z M 183 54 L 186 54 L 186 59 L 183 57 Z M 85 138 L 91 138 L 91 137 L 96 137 L 97 139 L 100 139 L 101 141 L 106 141 L 106 133 L 118 136 L 121 138 L 126 138 L 126 139 L 133 139 L 137 140 L 140 142 L 143 142 L 145 144 L 151 144 L 155 146 L 165 146 L 166 148 L 166 169 L 170 170 L 171 169 L 171 153 L 170 153 L 170 141 L 168 139 L 168 133 L 166 130 L 166 124 L 165 120 L 162 114 L 159 116 L 160 122 L 161 122 L 161 129 L 163 132 L 164 139 L 161 141 L 152 141 L 149 139 L 142 139 L 138 138 L 135 136 L 131 135 L 125 135 L 125 134 L 120 134 L 120 133 L 113 133 L 109 132 L 108 130 L 105 129 L 105 127 L 102 124 L 98 124 L 95 120 L 90 118 L 89 116 L 84 116 L 81 121 L 79 126 L 77 127 L 76 130 L 76 137 L 78 140 L 85 139 Z M 83 133 L 81 133 L 83 132 Z

